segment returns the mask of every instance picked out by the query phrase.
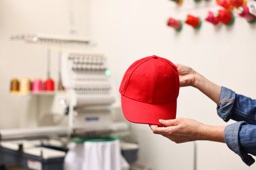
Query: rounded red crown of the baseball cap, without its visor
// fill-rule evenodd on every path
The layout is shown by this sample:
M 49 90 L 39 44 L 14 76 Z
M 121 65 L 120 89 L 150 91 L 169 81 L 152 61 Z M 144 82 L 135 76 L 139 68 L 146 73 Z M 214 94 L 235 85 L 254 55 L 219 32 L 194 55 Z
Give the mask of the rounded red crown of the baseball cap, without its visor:
M 127 69 L 119 92 L 143 103 L 171 103 L 179 95 L 177 67 L 171 61 L 158 56 L 139 59 Z

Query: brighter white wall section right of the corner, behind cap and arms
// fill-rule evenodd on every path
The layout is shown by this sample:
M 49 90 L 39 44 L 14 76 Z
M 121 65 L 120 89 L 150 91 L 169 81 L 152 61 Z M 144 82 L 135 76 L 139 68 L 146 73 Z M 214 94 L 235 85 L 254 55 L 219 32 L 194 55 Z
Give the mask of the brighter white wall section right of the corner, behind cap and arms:
M 202 1 L 198 7 L 187 0 L 183 8 L 177 8 L 171 1 L 94 0 L 90 8 L 93 18 L 90 33 L 98 41 L 98 48 L 110 59 L 117 84 L 133 61 L 156 54 L 174 63 L 190 65 L 217 84 L 256 97 L 253 52 L 256 25 L 238 16 L 232 27 L 214 27 L 203 22 L 198 31 L 184 25 L 177 33 L 165 25 L 169 16 L 183 19 L 190 13 L 203 18 L 208 9 L 219 9 L 214 3 Z M 226 125 L 217 116 L 216 105 L 192 88 L 181 89 L 177 116 L 195 118 L 205 124 Z M 147 126 L 133 125 L 133 128 L 141 143 L 139 162 L 154 169 L 192 169 L 191 143 L 190 146 L 171 141 L 167 144 L 161 137 L 153 139 Z M 159 151 L 154 153 L 155 149 Z M 188 152 L 181 156 L 181 150 Z M 198 169 L 253 167 L 247 167 L 226 144 L 198 142 Z

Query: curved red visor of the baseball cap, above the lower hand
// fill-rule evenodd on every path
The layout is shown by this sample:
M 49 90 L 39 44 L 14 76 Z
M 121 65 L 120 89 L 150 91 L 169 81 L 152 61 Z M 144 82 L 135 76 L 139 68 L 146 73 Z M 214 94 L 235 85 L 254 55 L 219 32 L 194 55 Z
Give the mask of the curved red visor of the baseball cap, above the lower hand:
M 160 119 L 176 118 L 177 100 L 165 105 L 152 105 L 129 99 L 121 95 L 123 115 L 129 122 L 162 126 Z

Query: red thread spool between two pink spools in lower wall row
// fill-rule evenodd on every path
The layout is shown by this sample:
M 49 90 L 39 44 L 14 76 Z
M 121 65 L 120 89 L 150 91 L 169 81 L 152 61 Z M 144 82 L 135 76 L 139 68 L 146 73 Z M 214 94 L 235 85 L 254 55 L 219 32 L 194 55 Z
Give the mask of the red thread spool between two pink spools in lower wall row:
M 234 15 L 228 10 L 219 10 L 215 12 L 214 16 L 225 25 L 232 25 L 234 23 Z

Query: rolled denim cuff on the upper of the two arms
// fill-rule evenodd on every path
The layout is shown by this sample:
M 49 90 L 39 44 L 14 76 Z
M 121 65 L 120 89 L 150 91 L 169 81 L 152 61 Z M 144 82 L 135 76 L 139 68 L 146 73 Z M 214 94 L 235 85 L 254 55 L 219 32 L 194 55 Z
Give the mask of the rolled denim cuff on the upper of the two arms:
M 219 106 L 217 107 L 217 114 L 228 122 L 231 117 L 231 110 L 234 107 L 234 100 L 236 93 L 228 88 L 221 87 L 221 94 L 219 95 Z

